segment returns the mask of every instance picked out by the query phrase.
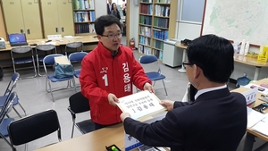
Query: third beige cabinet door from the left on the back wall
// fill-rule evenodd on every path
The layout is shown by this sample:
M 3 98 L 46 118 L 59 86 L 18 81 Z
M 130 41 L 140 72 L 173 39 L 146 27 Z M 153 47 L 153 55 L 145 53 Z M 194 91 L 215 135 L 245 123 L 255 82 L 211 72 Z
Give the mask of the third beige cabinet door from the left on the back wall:
M 57 1 L 41 0 L 41 9 L 43 16 L 45 38 L 47 35 L 61 34 L 59 29 Z

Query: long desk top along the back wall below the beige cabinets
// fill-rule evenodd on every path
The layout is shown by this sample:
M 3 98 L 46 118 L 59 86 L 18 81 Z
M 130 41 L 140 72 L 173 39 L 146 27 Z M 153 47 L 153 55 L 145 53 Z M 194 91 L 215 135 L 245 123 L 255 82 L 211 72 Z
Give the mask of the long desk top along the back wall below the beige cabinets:
M 27 40 L 27 42 L 30 44 L 37 44 L 41 45 L 42 41 L 47 41 L 47 38 L 41 38 L 41 39 L 33 39 L 33 40 Z M 52 39 L 52 42 L 55 42 L 55 46 L 62 46 L 66 45 L 70 42 L 76 42 L 76 41 L 81 41 L 82 43 L 96 43 L 98 42 L 98 39 L 95 38 L 95 35 L 90 35 L 90 36 L 81 36 L 81 37 L 73 37 L 73 38 L 62 38 L 60 39 Z M 35 46 L 32 46 L 35 47 Z M 9 42 L 5 42 L 5 49 L 0 49 L 1 51 L 10 51 L 13 48 L 13 46 L 10 46 Z

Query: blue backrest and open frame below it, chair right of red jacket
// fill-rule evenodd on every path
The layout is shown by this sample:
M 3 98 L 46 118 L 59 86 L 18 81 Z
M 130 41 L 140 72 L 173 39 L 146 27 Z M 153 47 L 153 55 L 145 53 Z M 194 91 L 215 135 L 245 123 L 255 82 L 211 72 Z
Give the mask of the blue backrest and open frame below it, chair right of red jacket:
M 146 72 L 159 72 L 161 73 L 160 64 L 155 55 L 141 55 L 139 57 L 139 63 L 142 64 Z

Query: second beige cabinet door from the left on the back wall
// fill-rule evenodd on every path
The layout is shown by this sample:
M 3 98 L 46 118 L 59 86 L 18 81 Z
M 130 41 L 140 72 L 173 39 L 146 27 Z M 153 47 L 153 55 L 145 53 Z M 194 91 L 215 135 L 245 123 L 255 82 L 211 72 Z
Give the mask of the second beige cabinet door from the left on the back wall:
M 43 38 L 38 0 L 21 0 L 27 39 Z

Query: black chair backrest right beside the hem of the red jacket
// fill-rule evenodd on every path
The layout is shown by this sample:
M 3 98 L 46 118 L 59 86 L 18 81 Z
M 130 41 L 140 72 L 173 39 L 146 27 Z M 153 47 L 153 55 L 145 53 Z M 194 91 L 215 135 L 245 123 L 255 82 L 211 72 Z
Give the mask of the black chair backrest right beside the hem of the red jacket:
M 90 110 L 88 98 L 78 92 L 69 97 L 70 108 L 73 113 L 83 113 Z

